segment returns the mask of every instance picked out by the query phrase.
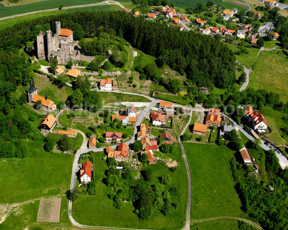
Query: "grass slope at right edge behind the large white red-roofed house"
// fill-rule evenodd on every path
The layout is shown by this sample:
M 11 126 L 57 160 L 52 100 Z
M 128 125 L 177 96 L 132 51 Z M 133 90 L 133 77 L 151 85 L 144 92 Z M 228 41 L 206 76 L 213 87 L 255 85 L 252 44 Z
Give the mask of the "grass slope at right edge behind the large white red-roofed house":
M 281 130 L 281 128 L 287 125 L 287 123 L 282 119 L 284 114 L 280 111 L 271 109 L 270 107 L 265 107 L 262 114 L 265 117 L 268 126 L 272 129 L 272 132 L 265 134 L 265 136 L 277 143 L 277 145 L 287 145 L 288 137 L 284 136 L 285 139 L 282 138 L 283 132 Z

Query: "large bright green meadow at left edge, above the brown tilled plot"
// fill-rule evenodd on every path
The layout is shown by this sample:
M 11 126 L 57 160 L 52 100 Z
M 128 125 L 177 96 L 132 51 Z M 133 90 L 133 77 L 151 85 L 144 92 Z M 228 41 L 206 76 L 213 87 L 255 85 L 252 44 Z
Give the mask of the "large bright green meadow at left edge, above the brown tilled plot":
M 0 172 L 1 202 L 15 203 L 65 193 L 74 155 L 44 151 L 43 139 L 22 141 L 29 147 L 29 157 L 0 159 L 0 168 L 6 169 Z

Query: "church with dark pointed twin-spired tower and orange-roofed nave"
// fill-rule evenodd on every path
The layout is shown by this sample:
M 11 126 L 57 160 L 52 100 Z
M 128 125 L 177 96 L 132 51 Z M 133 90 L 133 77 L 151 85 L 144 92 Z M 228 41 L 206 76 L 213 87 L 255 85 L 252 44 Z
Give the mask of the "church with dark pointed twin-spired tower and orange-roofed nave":
M 30 81 L 30 90 L 27 92 L 27 94 L 28 94 L 29 104 L 35 105 L 36 102 L 40 100 L 42 103 L 41 108 L 48 110 L 48 111 L 54 111 L 56 109 L 56 105 L 54 104 L 52 100 L 48 99 L 47 94 L 45 94 L 45 98 L 38 95 L 38 90 L 35 87 L 34 79 Z

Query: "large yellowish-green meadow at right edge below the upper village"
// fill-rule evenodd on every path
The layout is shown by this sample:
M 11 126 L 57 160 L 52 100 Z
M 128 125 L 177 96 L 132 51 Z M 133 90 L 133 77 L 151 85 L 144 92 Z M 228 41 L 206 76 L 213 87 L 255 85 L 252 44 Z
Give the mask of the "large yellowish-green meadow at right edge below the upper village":
M 268 65 L 267 63 L 274 63 Z M 248 87 L 266 89 L 268 92 L 280 94 L 284 103 L 288 100 L 288 59 L 281 51 L 262 51 L 249 76 Z M 269 86 L 269 87 L 267 87 Z

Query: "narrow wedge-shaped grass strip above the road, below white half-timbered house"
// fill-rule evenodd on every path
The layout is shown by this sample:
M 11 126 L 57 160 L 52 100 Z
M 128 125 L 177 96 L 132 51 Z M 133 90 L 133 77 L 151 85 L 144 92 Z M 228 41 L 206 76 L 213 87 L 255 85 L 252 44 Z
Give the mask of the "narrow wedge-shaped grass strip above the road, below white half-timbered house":
M 112 92 L 100 92 L 102 94 L 104 104 L 119 102 L 119 101 L 129 101 L 129 102 L 150 102 L 145 97 L 138 95 L 129 95 L 129 94 L 121 94 L 121 93 L 112 93 Z

